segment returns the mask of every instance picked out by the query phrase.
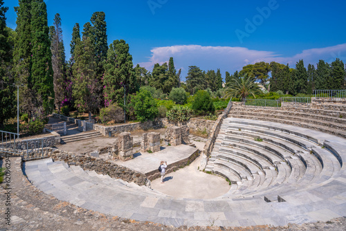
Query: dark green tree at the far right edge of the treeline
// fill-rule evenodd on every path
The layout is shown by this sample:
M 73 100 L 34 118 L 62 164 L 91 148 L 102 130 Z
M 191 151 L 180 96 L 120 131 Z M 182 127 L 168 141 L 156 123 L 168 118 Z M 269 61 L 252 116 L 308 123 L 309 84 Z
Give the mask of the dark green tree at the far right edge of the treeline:
M 345 68 L 344 63 L 340 59 L 336 58 L 334 62 L 331 63 L 331 77 L 329 82 L 329 89 L 338 90 L 343 89 L 343 84 L 345 81 Z

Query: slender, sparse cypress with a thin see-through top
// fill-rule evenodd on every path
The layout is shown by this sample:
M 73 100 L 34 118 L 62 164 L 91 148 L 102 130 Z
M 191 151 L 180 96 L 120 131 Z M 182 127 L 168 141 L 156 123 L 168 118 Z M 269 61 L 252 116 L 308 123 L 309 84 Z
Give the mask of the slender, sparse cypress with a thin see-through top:
M 54 26 L 50 27 L 51 37 L 51 53 L 53 67 L 53 86 L 54 86 L 54 104 L 57 111 L 60 113 L 60 104 L 65 98 L 66 70 L 65 70 L 65 48 L 62 40 L 62 23 L 60 15 L 56 14 L 54 18 Z

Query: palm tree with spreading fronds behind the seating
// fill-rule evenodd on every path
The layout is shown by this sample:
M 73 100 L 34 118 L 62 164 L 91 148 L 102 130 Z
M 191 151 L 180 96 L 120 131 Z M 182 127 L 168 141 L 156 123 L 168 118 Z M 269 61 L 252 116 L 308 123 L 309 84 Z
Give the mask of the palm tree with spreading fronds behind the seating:
M 248 95 L 253 95 L 255 98 L 257 93 L 261 93 L 260 86 L 255 83 L 255 78 L 245 73 L 239 79 L 234 78 L 230 81 L 230 85 L 225 90 L 224 97 L 242 98 L 242 101 L 244 101 Z

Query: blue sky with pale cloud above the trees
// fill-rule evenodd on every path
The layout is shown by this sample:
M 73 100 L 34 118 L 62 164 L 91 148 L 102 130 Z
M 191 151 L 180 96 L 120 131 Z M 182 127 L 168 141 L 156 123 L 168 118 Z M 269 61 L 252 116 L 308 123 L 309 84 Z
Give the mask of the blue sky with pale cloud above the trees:
M 134 65 L 152 71 L 174 57 L 182 79 L 188 66 L 233 73 L 255 62 L 289 63 L 304 59 L 346 62 L 346 2 L 337 1 L 182 1 L 46 0 L 48 25 L 58 12 L 66 56 L 72 28 L 95 11 L 106 13 L 108 43 L 125 39 Z M 17 0 L 5 0 L 7 24 L 15 29 Z

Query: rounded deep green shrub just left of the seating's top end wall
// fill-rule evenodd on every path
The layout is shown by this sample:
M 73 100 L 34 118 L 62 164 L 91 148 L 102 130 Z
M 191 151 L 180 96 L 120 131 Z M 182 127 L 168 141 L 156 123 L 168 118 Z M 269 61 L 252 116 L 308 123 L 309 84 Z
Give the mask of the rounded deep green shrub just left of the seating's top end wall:
M 192 102 L 192 109 L 198 114 L 214 113 L 215 106 L 207 91 L 197 91 Z

